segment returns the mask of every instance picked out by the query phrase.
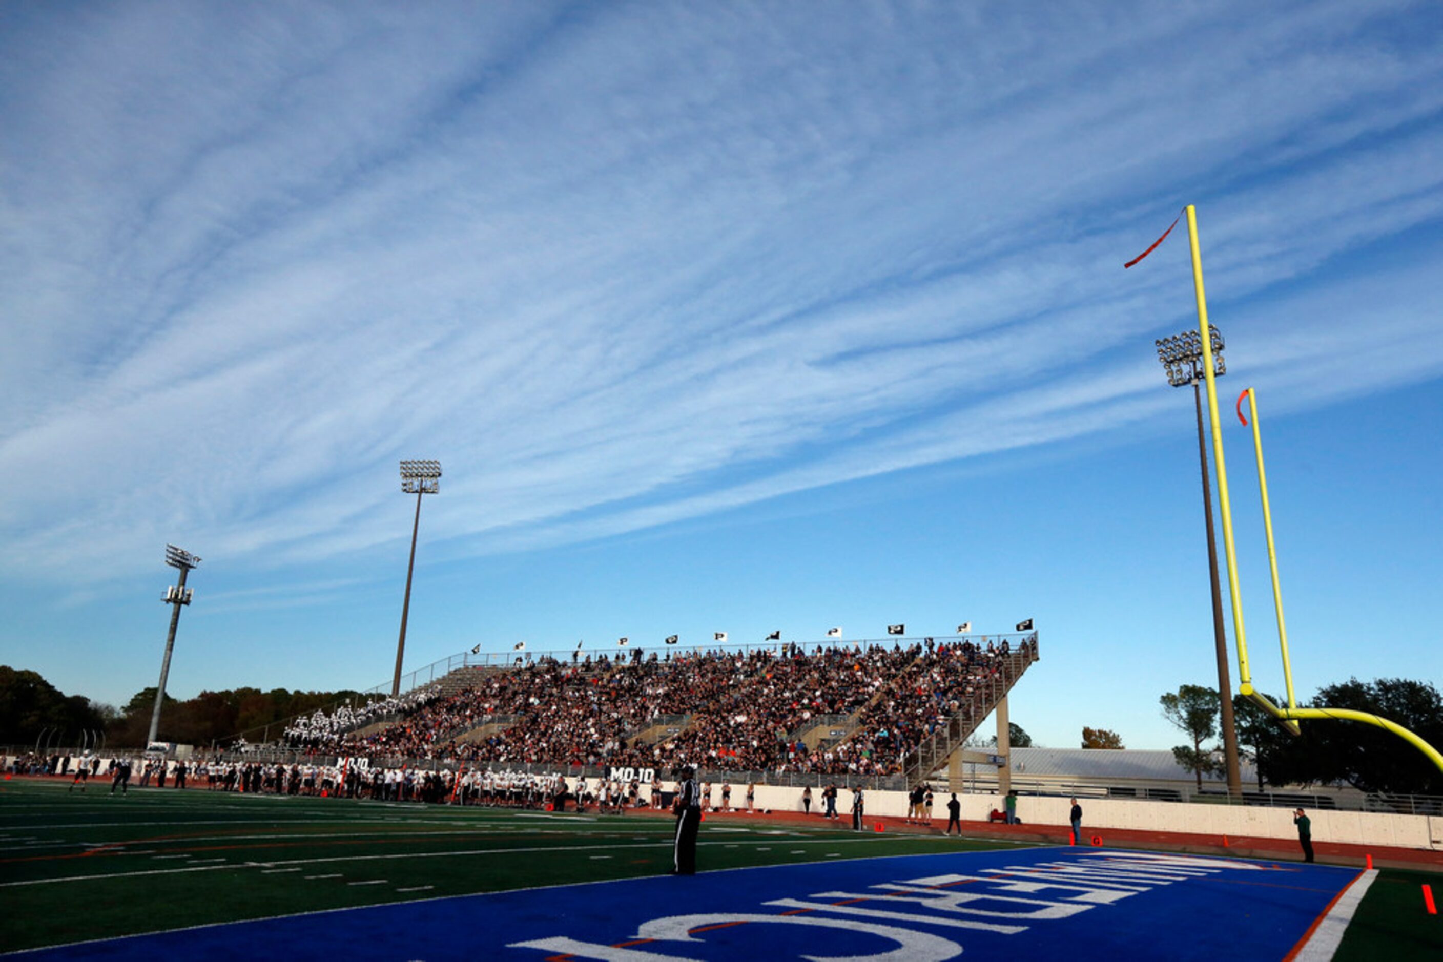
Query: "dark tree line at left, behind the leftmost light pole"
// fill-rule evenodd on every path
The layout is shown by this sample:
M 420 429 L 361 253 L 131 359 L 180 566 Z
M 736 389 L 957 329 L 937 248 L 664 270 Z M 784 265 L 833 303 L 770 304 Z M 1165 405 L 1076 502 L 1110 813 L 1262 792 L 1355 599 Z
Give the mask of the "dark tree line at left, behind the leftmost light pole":
M 248 731 L 260 741 L 266 728 L 270 737 L 280 724 L 299 714 L 310 714 L 339 701 L 359 698 L 359 692 L 289 691 L 273 688 L 234 688 L 202 691 L 195 698 L 166 695 L 160 715 L 160 738 L 179 744 L 209 746 L 225 743 Z M 35 746 L 42 736 L 56 747 L 74 749 L 82 733 L 101 731 L 111 749 L 144 747 L 156 688 L 143 688 L 123 707 L 95 702 L 84 695 L 65 695 L 38 672 L 0 665 L 0 744 Z M 49 730 L 49 731 L 46 731 Z M 56 741 L 56 738 L 59 738 Z

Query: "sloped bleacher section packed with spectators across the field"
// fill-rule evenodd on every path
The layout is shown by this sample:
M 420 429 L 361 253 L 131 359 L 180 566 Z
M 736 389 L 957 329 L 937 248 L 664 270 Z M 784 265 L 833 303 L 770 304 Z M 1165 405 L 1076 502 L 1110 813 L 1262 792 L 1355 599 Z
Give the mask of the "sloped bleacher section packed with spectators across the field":
M 644 766 L 886 776 L 952 715 L 983 710 L 987 682 L 1017 643 L 794 645 L 658 658 L 543 656 L 356 710 L 316 712 L 287 730 L 293 747 L 469 766 Z M 388 725 L 377 718 L 400 715 Z M 658 718 L 678 730 L 644 737 Z M 814 720 L 835 737 L 808 738 Z M 835 721 L 843 718 L 844 721 Z M 367 727 L 369 724 L 369 727 Z

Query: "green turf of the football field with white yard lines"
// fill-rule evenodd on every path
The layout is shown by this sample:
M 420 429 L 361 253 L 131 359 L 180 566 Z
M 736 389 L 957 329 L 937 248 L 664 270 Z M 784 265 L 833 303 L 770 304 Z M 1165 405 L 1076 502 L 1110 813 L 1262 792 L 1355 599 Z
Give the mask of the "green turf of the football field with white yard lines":
M 120 935 L 564 883 L 658 875 L 672 822 L 486 808 L 108 785 L 0 782 L 0 950 Z M 835 824 L 711 818 L 703 871 L 876 855 L 1019 848 L 1017 842 Z M 1443 958 L 1443 926 L 1420 886 L 1385 870 L 1338 958 Z M 1380 952 L 1385 955 L 1380 956 Z

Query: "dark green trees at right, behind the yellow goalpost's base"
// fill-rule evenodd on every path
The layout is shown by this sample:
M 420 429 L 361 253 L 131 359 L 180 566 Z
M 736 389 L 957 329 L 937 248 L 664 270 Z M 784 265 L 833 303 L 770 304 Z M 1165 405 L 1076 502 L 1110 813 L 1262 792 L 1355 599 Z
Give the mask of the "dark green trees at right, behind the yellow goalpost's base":
M 1268 695 L 1273 704 L 1284 700 Z M 1185 770 L 1202 776 L 1221 773 L 1222 700 L 1215 688 L 1182 685 L 1159 700 L 1163 718 L 1185 733 L 1190 744 L 1173 749 Z M 1307 708 L 1348 708 L 1381 715 L 1408 728 L 1429 744 L 1443 746 L 1443 697 L 1429 682 L 1378 678 L 1325 685 Z M 1326 720 L 1302 721 L 1294 736 L 1247 698 L 1232 700 L 1238 751 L 1257 769 L 1257 787 L 1284 785 L 1351 785 L 1362 792 L 1388 795 L 1443 795 L 1443 772 L 1414 746 L 1375 725 Z

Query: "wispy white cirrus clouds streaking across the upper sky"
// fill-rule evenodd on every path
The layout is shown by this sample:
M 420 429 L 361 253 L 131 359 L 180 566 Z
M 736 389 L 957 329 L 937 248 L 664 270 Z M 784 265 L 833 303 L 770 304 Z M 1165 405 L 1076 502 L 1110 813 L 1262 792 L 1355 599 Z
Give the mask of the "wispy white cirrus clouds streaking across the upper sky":
M 1183 200 L 1281 404 L 1437 376 L 1436 271 L 1293 288 L 1437 241 L 1426 7 L 810 13 L 12 12 L 7 542 L 365 552 L 427 454 L 486 552 L 1146 423 Z

